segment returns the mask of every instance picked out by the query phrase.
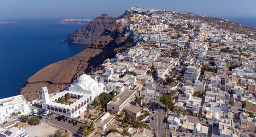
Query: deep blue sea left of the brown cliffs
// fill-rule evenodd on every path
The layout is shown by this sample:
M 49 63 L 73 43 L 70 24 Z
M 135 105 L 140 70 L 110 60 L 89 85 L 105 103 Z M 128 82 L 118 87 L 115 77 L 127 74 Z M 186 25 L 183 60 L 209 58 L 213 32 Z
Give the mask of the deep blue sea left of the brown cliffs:
M 86 49 L 87 45 L 61 42 L 82 25 L 57 25 L 57 21 L 18 20 L 0 25 L 0 98 L 18 95 L 35 72 Z

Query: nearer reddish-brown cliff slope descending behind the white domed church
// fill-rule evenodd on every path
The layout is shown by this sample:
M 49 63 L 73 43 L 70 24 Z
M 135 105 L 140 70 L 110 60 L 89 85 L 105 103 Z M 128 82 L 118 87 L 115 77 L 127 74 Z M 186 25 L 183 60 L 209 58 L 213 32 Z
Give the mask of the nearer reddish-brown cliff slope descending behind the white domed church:
M 29 101 L 42 99 L 41 88 L 46 86 L 50 93 L 63 90 L 83 72 L 90 72 L 106 58 L 125 51 L 133 43 L 131 36 L 123 37 L 126 27 L 111 24 L 104 34 L 93 42 L 87 49 L 74 57 L 53 63 L 27 79 L 19 92 Z M 87 35 L 87 33 L 85 33 Z

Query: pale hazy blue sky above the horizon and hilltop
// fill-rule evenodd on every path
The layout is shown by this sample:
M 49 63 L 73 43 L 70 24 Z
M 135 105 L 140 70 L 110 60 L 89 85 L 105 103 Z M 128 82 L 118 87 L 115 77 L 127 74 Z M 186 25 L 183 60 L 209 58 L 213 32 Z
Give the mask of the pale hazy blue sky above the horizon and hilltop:
M 118 17 L 130 7 L 191 12 L 211 17 L 256 18 L 255 0 L 0 0 L 0 20 L 26 18 L 94 19 Z

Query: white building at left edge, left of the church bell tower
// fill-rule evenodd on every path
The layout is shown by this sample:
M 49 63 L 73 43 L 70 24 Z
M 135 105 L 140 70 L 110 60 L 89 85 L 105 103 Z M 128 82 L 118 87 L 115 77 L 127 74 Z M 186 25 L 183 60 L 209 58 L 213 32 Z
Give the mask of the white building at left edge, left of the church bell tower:
M 11 96 L 9 98 L 0 99 L 0 123 L 10 118 L 13 113 L 18 115 L 30 114 L 29 104 L 23 95 Z

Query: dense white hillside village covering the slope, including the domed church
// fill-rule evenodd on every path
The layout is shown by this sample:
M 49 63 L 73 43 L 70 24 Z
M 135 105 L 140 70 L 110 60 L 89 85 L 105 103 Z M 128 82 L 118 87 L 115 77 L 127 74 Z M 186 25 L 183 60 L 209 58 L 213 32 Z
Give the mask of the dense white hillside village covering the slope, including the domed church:
M 100 108 L 90 120 L 92 136 L 255 136 L 255 34 L 220 29 L 223 22 L 191 13 L 137 7 L 126 12 L 114 23 L 126 27 L 120 39 L 131 36 L 133 45 L 55 93 L 53 103 L 43 100 L 46 110 L 78 119 Z M 79 103 L 58 102 L 67 93 Z M 0 99 L 0 123 L 9 117 L 2 112 L 5 102 Z

